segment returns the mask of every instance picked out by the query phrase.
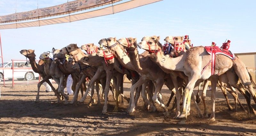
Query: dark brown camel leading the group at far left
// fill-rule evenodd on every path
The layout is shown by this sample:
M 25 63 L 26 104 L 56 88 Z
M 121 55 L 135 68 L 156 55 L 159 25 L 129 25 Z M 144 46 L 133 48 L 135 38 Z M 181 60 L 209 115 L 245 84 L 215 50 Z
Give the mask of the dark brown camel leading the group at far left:
M 52 86 L 52 83 L 49 81 L 49 79 L 51 79 L 52 77 L 49 75 L 46 75 L 46 73 L 44 72 L 44 65 L 43 65 L 44 61 L 39 60 L 39 62 L 37 64 L 36 63 L 36 55 L 34 52 L 35 52 L 35 50 L 33 50 L 33 49 L 22 49 L 20 51 L 20 54 L 24 55 L 26 58 L 29 59 L 29 64 L 31 64 L 32 70 L 34 72 L 38 73 L 43 78 L 43 80 L 37 84 L 37 95 L 36 95 L 35 103 L 39 102 L 39 90 L 40 90 L 41 85 L 44 82 L 46 82 L 50 85 L 53 92 L 57 96 L 58 102 L 60 102 L 60 95 L 57 93 L 55 88 Z

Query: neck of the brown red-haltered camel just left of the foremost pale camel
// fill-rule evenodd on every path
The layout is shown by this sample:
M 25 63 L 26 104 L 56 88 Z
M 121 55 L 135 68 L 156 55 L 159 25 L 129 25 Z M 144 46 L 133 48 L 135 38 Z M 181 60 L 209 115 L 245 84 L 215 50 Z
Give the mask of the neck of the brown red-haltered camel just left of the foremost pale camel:
M 143 70 L 140 66 L 140 59 L 139 59 L 139 52 L 137 49 L 133 50 L 128 50 L 128 56 L 130 57 L 131 64 L 135 68 L 135 71 L 139 73 L 143 73 Z

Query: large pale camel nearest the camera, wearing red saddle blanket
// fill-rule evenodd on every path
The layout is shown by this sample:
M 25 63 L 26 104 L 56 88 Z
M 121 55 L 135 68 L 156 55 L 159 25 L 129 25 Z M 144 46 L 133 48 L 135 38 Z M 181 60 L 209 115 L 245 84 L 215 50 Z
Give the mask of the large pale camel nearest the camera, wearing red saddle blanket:
M 176 36 L 174 39 L 179 40 L 179 37 Z M 184 37 L 181 37 L 181 39 L 183 40 Z M 174 41 L 172 41 L 172 43 L 174 43 Z M 250 91 L 252 96 L 255 97 L 255 91 L 252 88 L 250 76 L 246 71 L 245 65 L 242 65 L 243 63 L 238 59 L 236 59 L 237 61 L 232 61 L 226 56 L 216 55 L 215 73 L 211 76 L 211 67 L 207 67 L 201 74 L 204 66 L 206 66 L 210 60 L 210 56 L 202 46 L 193 47 L 183 55 L 176 58 L 164 56 L 163 51 L 154 41 L 142 41 L 139 43 L 139 47 L 145 50 L 155 51 L 155 53 L 151 54 L 151 60 L 158 64 L 164 71 L 182 71 L 186 74 L 186 76 L 188 76 L 188 84 L 183 95 L 183 111 L 178 117 L 178 119 L 183 119 L 181 124 L 184 124 L 185 119 L 187 118 L 190 97 L 198 79 L 209 79 L 212 82 L 212 114 L 210 119 L 215 120 L 215 91 L 218 80 L 218 76 L 216 75 L 221 75 L 227 72 L 233 65 L 236 74 L 242 81 L 242 84 Z M 149 47 L 151 49 L 149 49 Z M 238 68 L 240 71 L 238 71 Z

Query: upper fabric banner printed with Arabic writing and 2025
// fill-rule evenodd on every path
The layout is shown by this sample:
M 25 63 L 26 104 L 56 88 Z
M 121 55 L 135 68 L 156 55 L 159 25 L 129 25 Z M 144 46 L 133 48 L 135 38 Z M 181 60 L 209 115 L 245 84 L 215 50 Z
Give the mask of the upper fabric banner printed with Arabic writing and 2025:
M 0 16 L 0 23 L 22 21 L 27 19 L 40 19 L 53 15 L 68 14 L 69 12 L 81 11 L 89 7 L 92 8 L 97 5 L 111 4 L 112 2 L 114 3 L 117 1 L 120 0 L 76 0 L 48 8 Z

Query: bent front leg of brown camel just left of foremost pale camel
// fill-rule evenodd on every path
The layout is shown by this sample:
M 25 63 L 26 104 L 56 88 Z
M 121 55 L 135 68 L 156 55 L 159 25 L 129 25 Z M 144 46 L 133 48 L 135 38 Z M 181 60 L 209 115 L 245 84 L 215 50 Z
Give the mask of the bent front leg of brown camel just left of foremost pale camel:
M 140 77 L 140 79 L 131 87 L 131 93 L 130 93 L 130 102 L 127 112 L 132 113 L 135 111 L 135 102 L 134 102 L 134 91 L 137 87 L 141 86 L 146 81 L 145 78 Z

